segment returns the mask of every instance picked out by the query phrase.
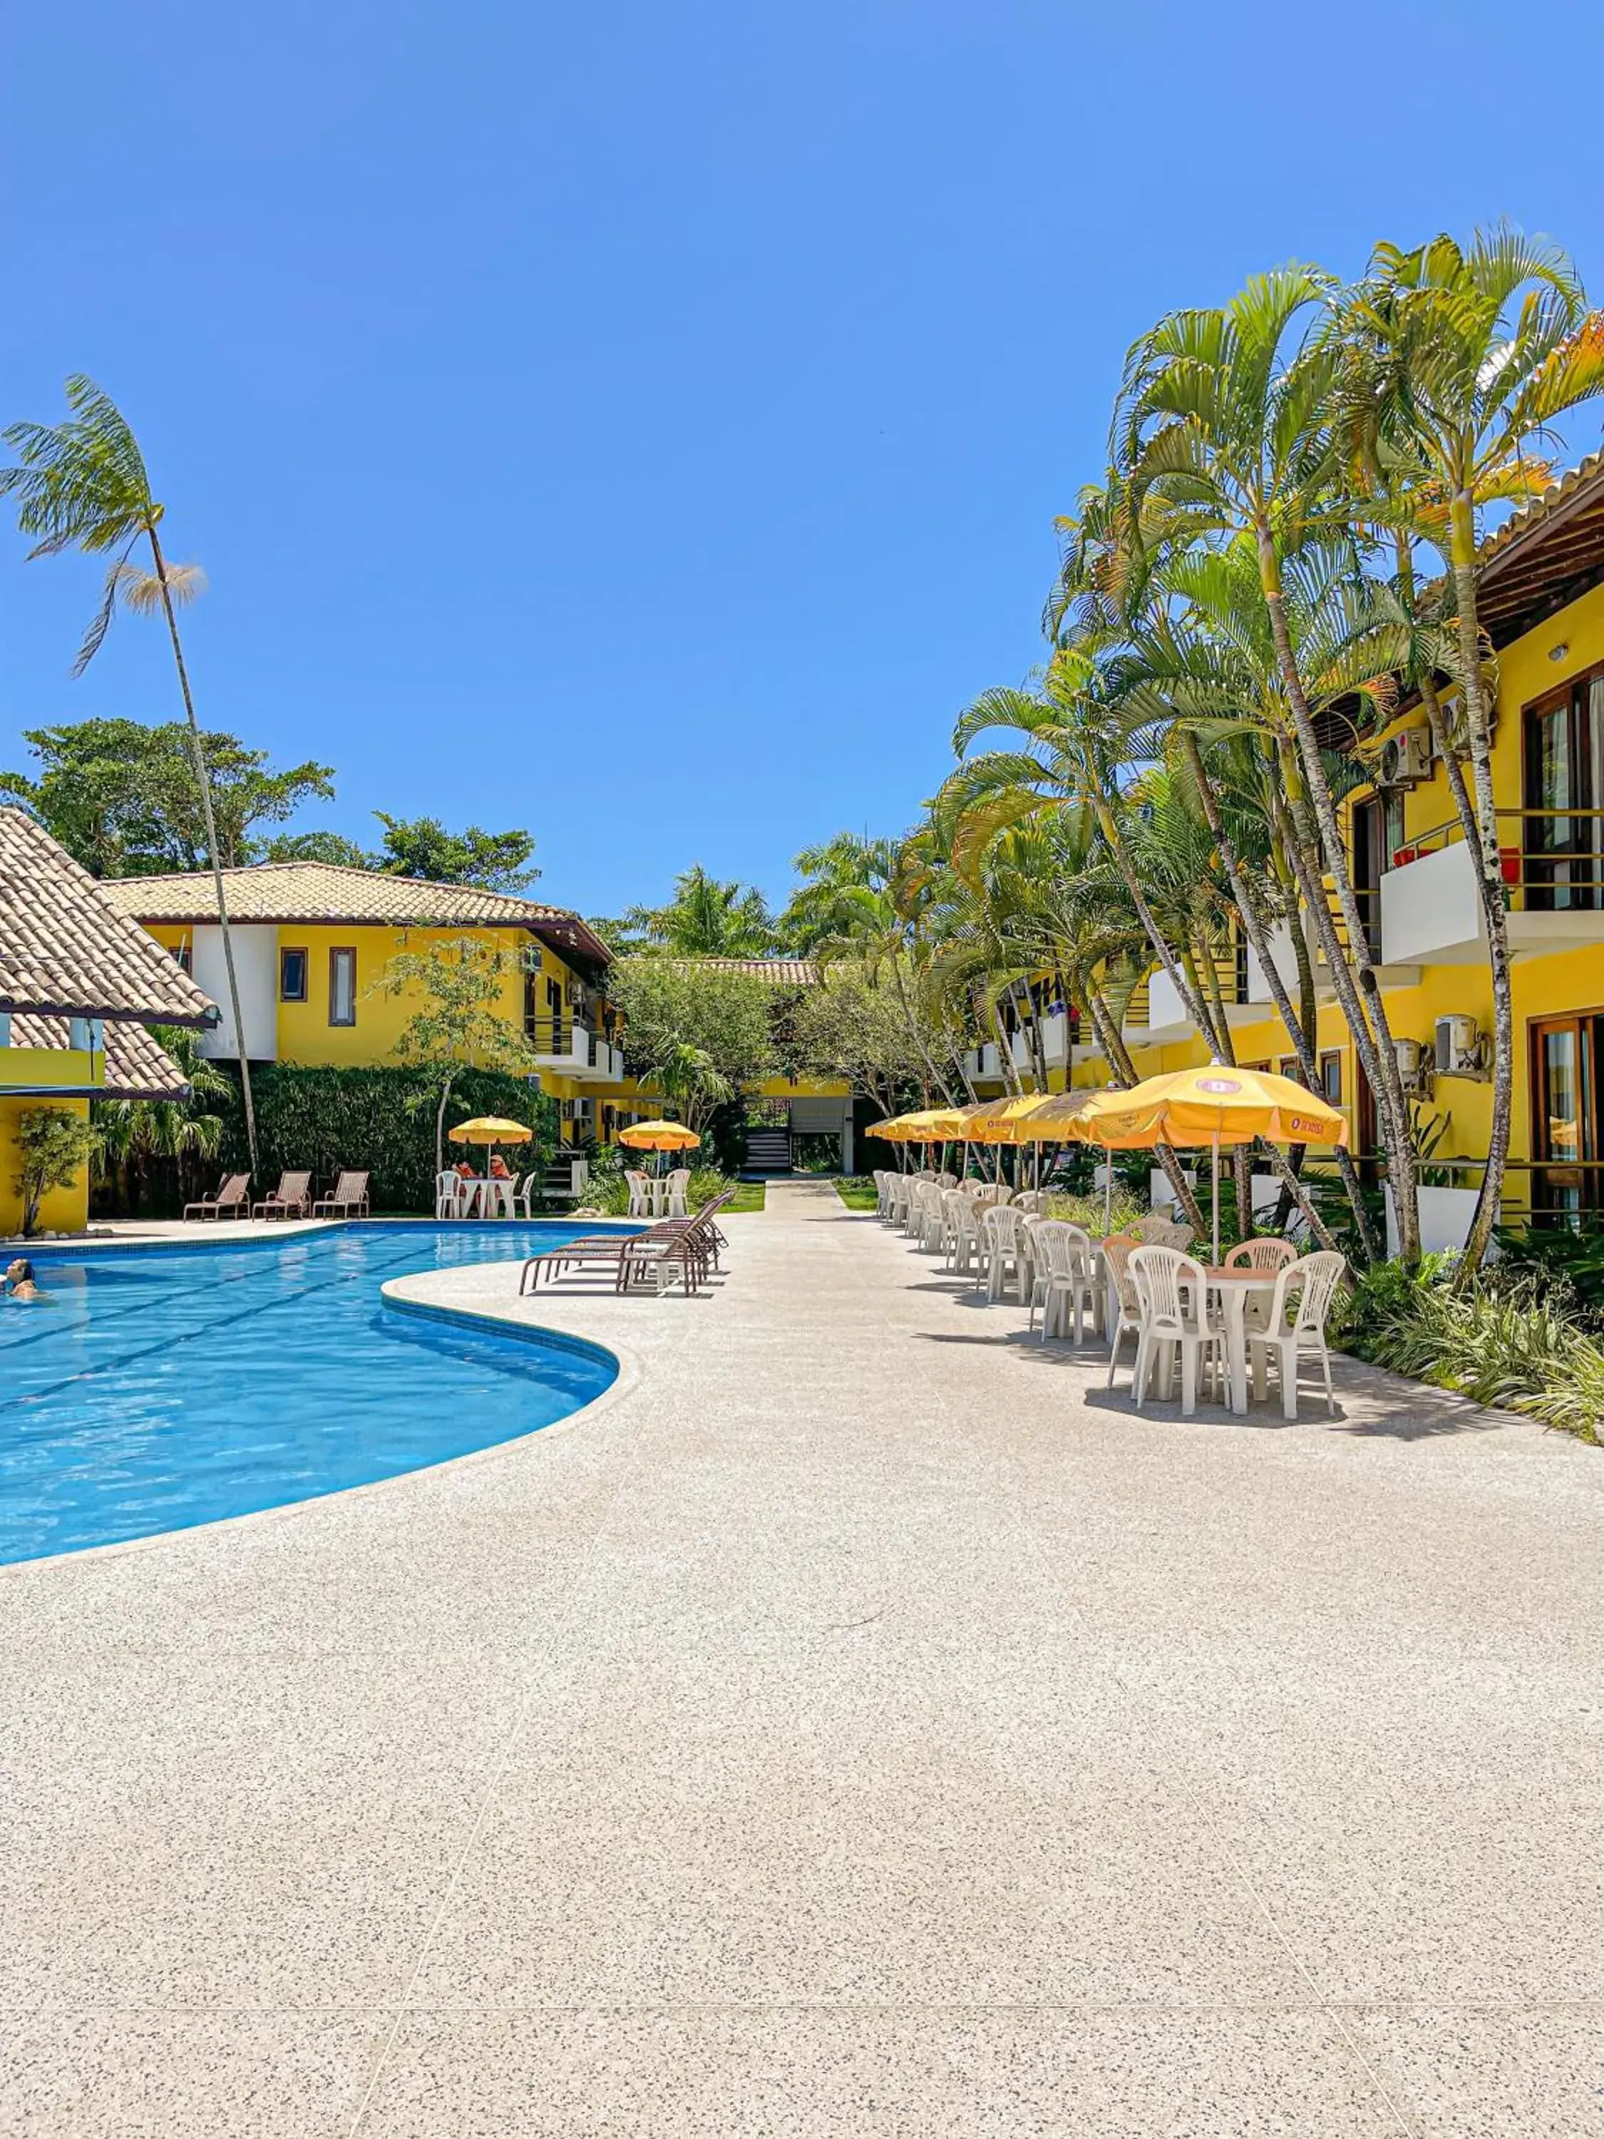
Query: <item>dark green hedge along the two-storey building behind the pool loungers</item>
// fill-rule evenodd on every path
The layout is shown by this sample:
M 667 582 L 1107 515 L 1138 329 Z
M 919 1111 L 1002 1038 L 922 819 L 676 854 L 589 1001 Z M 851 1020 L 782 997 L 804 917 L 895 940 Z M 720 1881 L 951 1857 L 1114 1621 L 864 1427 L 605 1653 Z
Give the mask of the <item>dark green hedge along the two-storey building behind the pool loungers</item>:
M 225 1065 L 227 1067 L 227 1065 Z M 340 1168 L 361 1168 L 372 1179 L 374 1211 L 434 1209 L 434 1108 L 438 1082 L 415 1070 L 308 1070 L 295 1063 L 261 1063 L 250 1072 L 257 1102 L 257 1187 L 265 1196 L 289 1168 L 312 1168 L 317 1187 L 334 1185 Z M 246 1114 L 235 1082 L 233 1097 L 218 1102 L 222 1151 L 218 1170 L 248 1166 Z M 503 1114 L 535 1129 L 533 1144 L 507 1147 L 513 1172 L 545 1168 L 558 1144 L 556 1102 L 537 1093 L 520 1076 L 498 1070 L 464 1070 L 445 1106 L 445 1127 L 471 1114 Z M 460 1157 L 447 1144 L 447 1164 Z M 468 1157 L 483 1159 L 481 1151 Z

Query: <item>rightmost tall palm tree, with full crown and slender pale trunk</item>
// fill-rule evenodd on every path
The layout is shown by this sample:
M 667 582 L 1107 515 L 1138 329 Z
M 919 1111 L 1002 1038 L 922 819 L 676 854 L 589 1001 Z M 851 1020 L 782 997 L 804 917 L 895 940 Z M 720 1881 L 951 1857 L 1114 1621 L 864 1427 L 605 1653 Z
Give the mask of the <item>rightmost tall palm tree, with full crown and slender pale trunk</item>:
M 1604 391 L 1604 312 L 1557 246 L 1501 225 L 1461 248 L 1452 237 L 1405 252 L 1377 246 L 1335 327 L 1343 421 L 1377 520 L 1392 528 L 1401 595 L 1414 603 L 1412 543 L 1433 548 L 1456 631 L 1439 663 L 1465 706 L 1461 753 L 1431 674 L 1418 678 L 1467 845 L 1493 973 L 1493 1121 L 1465 1271 L 1486 1253 L 1503 1194 L 1514 1104 L 1514 997 L 1497 811 L 1493 721 L 1478 618 L 1480 513 L 1538 496 L 1555 477 L 1551 426 Z M 1536 447 L 1536 449 L 1533 449 Z M 1469 755 L 1467 794 L 1459 757 Z

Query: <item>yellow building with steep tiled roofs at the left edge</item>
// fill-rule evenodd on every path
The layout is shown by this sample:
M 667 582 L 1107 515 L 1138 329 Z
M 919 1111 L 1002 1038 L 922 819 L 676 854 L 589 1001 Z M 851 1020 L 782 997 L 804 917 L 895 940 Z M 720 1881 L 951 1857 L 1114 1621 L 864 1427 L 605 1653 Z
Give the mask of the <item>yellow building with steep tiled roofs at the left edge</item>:
M 0 1234 L 21 1226 L 17 1127 L 38 1106 L 188 1091 L 148 1025 L 199 1025 L 214 1005 L 26 811 L 0 809 Z M 88 1166 L 38 1209 L 41 1232 L 81 1232 Z

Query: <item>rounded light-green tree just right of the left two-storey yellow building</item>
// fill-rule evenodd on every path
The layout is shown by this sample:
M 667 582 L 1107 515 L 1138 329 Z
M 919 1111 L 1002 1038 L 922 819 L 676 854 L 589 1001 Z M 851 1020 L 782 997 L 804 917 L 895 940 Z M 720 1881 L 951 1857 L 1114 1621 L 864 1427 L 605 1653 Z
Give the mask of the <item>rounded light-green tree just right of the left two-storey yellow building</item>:
M 738 1093 L 778 1070 L 774 1020 L 793 992 L 751 973 L 682 958 L 620 958 L 607 975 L 624 1014 L 624 1052 L 644 1078 L 674 1080 L 691 1050 L 701 1057 L 704 1089 L 712 1080 Z M 667 1087 L 663 1087 L 667 1093 Z M 695 1127 L 695 1123 L 691 1123 Z

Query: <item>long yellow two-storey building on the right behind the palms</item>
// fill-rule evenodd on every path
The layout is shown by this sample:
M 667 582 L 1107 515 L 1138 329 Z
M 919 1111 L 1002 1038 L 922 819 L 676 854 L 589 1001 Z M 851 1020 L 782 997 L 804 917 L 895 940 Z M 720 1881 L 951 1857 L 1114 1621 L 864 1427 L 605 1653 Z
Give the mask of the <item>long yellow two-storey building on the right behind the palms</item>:
M 1493 787 L 1514 960 L 1503 1217 L 1523 1221 L 1604 1206 L 1604 458 L 1484 543 L 1480 620 L 1497 652 Z M 1448 1168 L 1448 1185 L 1422 1194 L 1422 1230 L 1426 1245 L 1450 1245 L 1463 1238 L 1480 1183 L 1493 1102 L 1493 982 L 1476 858 L 1418 704 L 1399 710 L 1375 764 L 1375 783 L 1358 787 L 1341 817 L 1405 1089 L 1435 1136 L 1431 1166 Z M 1347 1112 L 1354 1149 L 1369 1155 L 1371 1093 L 1311 926 L 1309 945 L 1322 1087 Z M 1273 956 L 1296 1001 L 1290 930 Z M 1225 960 L 1221 992 L 1236 1061 L 1292 1072 L 1285 1027 L 1247 943 Z M 1007 1022 L 1024 1067 L 1020 1020 Z M 1065 1018 L 1057 1029 L 1042 1018 L 1042 1029 L 1054 1035 L 1050 1084 L 1106 1080 L 1095 1048 L 1071 1050 Z M 1125 1042 L 1144 1074 L 1204 1059 L 1163 971 L 1140 990 Z M 997 1048 L 973 1061 L 997 1080 Z

